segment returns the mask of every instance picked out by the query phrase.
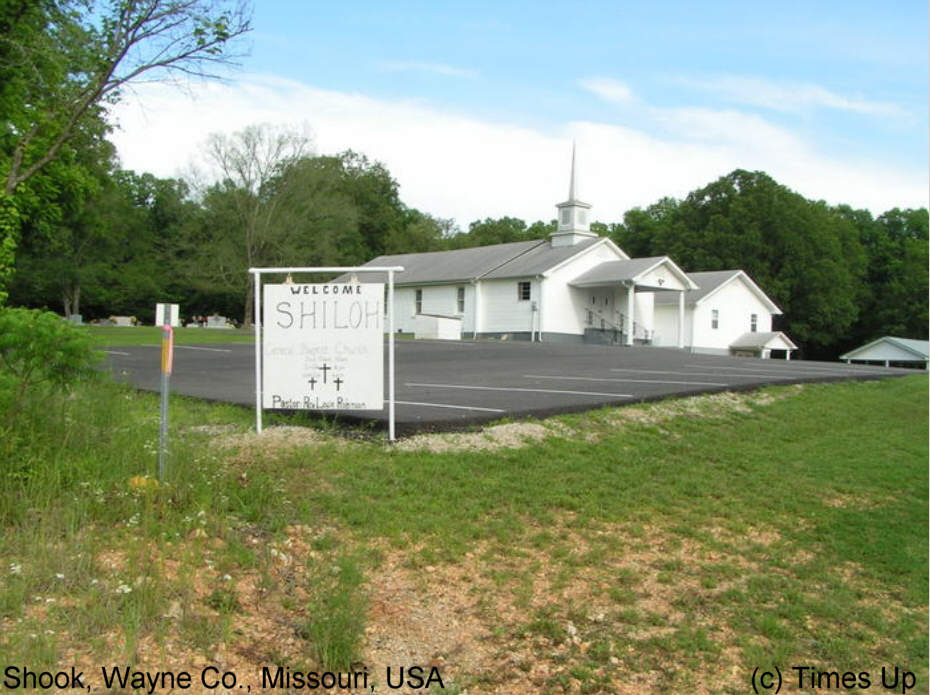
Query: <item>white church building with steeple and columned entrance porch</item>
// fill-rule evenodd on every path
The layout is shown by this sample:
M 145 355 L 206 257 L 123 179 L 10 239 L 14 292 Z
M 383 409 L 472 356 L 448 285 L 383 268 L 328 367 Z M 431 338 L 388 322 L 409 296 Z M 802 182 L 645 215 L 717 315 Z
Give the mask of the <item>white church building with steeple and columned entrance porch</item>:
M 630 258 L 592 232 L 591 206 L 576 195 L 574 151 L 568 200 L 556 208 L 558 228 L 548 239 L 366 263 L 404 268 L 395 275 L 395 330 L 760 357 L 796 349 L 772 332 L 781 312 L 743 271 L 687 274 L 668 256 Z

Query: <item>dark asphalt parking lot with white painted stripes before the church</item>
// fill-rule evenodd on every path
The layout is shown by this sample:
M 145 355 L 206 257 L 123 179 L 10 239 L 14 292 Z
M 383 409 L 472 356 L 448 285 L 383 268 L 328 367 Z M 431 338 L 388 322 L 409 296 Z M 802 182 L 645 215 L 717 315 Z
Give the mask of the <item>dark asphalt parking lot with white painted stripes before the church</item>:
M 118 347 L 106 352 L 117 378 L 144 390 L 158 390 L 160 347 Z M 178 345 L 171 391 L 254 407 L 254 360 L 252 345 Z M 396 343 L 395 417 L 398 435 L 405 435 L 674 395 L 914 373 L 840 362 L 717 357 L 652 347 L 402 340 Z M 388 409 L 385 404 L 380 411 L 327 414 L 386 428 Z

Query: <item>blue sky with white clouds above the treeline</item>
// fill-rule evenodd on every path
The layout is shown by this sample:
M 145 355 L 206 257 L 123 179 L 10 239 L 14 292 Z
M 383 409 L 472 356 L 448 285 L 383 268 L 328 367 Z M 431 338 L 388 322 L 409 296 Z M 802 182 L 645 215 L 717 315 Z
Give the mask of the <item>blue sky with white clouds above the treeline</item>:
M 112 110 L 122 165 L 205 168 L 261 123 L 382 162 L 401 200 L 462 229 L 593 219 L 734 169 L 881 214 L 928 205 L 924 0 L 255 2 L 222 81 L 146 83 Z

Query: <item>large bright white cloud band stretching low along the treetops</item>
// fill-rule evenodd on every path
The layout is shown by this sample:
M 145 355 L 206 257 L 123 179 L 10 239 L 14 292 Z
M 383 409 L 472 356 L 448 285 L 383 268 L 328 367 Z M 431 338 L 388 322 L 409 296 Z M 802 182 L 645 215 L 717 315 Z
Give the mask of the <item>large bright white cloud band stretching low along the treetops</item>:
M 142 106 L 144 104 L 144 106 Z M 758 116 L 709 109 L 652 109 L 661 135 L 578 121 L 546 133 L 485 122 L 417 101 L 328 91 L 249 75 L 210 83 L 196 98 L 171 87 L 138 88 L 114 108 L 124 166 L 176 176 L 202 161 L 211 132 L 254 123 L 309 124 L 316 150 L 353 149 L 384 162 L 405 203 L 459 225 L 512 215 L 548 220 L 568 192 L 571 140 L 579 195 L 596 219 L 682 197 L 736 168 L 761 169 L 802 195 L 882 212 L 926 205 L 927 172 L 848 162 L 816 152 Z

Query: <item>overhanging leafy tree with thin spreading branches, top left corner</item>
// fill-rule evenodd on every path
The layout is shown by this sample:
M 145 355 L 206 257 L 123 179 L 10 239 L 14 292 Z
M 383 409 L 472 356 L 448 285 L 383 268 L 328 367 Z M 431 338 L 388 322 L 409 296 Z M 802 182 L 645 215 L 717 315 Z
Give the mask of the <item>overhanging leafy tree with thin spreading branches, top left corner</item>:
M 0 5 L 0 301 L 23 185 L 102 122 L 127 85 L 212 77 L 249 30 L 242 0 L 5 0 Z

